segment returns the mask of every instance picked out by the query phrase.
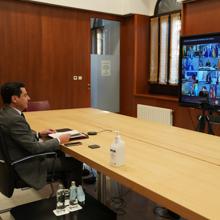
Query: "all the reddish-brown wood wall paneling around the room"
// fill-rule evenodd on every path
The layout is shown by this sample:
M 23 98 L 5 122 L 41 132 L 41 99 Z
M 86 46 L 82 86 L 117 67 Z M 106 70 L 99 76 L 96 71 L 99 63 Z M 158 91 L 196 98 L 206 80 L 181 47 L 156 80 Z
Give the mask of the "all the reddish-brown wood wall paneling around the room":
M 184 4 L 183 35 L 220 32 L 220 1 Z M 174 125 L 194 129 L 198 110 L 178 97 L 148 94 L 149 17 L 115 16 L 24 1 L 0 1 L 0 83 L 24 81 L 32 100 L 53 109 L 90 106 L 90 18 L 121 21 L 120 111 L 136 116 L 137 104 L 174 110 Z M 74 81 L 81 75 L 82 81 Z

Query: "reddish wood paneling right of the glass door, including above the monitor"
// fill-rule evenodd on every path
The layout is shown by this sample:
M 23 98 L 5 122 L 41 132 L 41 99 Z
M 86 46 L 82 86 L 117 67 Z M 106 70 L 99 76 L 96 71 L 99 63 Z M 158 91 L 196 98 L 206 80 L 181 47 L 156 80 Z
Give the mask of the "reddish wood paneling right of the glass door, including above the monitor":
M 201 34 L 208 32 L 220 32 L 220 1 L 201 0 L 184 4 L 183 8 L 183 35 Z M 179 106 L 178 97 L 152 95 L 147 92 L 149 74 L 149 19 L 139 15 L 129 18 L 129 23 L 124 28 L 122 50 L 129 50 L 128 56 L 121 58 L 122 90 L 121 113 L 136 116 L 136 105 L 146 104 L 171 108 L 174 110 L 174 125 L 187 129 L 195 129 L 197 116 L 200 110 Z M 145 26 L 143 25 L 145 24 Z M 141 27 L 141 31 L 138 31 Z M 131 36 L 133 47 L 126 37 Z M 142 42 L 146 39 L 141 47 Z M 145 54 L 144 54 L 145 53 Z M 126 54 L 126 53 L 124 53 Z M 133 61 L 131 61 L 133 60 Z M 134 65 L 131 65 L 130 63 Z M 131 82 L 134 80 L 134 88 L 131 90 Z

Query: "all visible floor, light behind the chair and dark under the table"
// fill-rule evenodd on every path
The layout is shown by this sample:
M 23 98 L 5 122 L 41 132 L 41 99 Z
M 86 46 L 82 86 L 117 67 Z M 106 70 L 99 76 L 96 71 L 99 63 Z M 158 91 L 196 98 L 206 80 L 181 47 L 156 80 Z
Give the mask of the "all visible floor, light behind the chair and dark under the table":
M 154 204 L 152 201 L 140 196 L 130 189 L 111 182 L 111 190 L 107 189 L 106 204 L 113 209 L 118 215 L 117 220 L 165 220 L 153 213 Z M 55 188 L 57 184 L 55 185 Z M 96 197 L 96 184 L 85 185 L 84 189 L 94 197 Z M 110 191 L 109 191 L 110 190 Z M 17 190 L 11 199 L 7 199 L 0 194 L 0 210 L 14 207 L 18 204 L 24 204 L 41 198 L 46 198 L 50 194 L 49 186 L 40 191 L 33 189 Z M 111 195 L 111 196 L 110 196 Z M 14 220 L 10 212 L 0 214 L 2 220 Z M 181 219 L 183 220 L 183 219 Z

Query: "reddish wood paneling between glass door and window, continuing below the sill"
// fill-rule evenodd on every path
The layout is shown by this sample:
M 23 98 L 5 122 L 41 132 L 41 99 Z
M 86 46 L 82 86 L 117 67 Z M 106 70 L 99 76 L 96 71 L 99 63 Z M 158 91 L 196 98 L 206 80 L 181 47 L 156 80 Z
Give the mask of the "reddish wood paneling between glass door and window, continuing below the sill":
M 180 107 L 178 97 L 148 93 L 149 31 L 147 16 L 131 15 L 121 22 L 121 113 L 136 117 L 137 104 L 170 108 L 175 126 L 194 129 L 194 110 Z

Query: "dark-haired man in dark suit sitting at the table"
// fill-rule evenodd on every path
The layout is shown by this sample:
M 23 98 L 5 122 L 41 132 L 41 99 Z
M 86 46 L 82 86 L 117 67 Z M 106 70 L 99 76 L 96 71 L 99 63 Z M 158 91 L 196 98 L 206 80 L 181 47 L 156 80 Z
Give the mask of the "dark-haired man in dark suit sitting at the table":
M 52 172 L 54 164 L 55 174 L 61 174 L 65 187 L 69 187 L 72 180 L 76 181 L 76 185 L 80 185 L 82 163 L 74 158 L 65 157 L 59 151 L 60 144 L 68 142 L 70 136 L 64 134 L 57 139 L 39 142 L 39 138 L 47 137 L 54 131 L 48 129 L 36 133 L 25 120 L 22 112 L 27 108 L 30 100 L 25 85 L 20 82 L 5 83 L 1 87 L 1 96 L 4 106 L 0 109 L 0 125 L 12 162 L 39 153 L 52 151 L 59 153 L 55 163 L 53 158 L 41 157 L 15 166 L 19 177 L 28 185 L 40 189 L 46 185 L 47 175 Z

